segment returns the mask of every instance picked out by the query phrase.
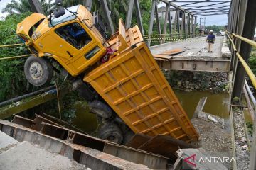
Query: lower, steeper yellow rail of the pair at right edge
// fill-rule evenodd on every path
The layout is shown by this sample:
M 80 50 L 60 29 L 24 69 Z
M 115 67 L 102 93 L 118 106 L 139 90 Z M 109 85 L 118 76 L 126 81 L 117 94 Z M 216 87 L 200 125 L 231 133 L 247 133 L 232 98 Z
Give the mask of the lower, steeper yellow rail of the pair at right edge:
M 250 69 L 248 64 L 245 62 L 245 60 L 242 58 L 242 56 L 238 53 L 238 50 L 236 49 L 235 44 L 234 44 L 233 40 L 230 38 L 229 35 L 228 35 L 228 39 L 230 40 L 230 42 L 231 42 L 231 44 L 233 46 L 233 50 L 235 51 L 235 55 L 238 56 L 238 59 L 242 63 L 242 66 L 245 68 L 245 71 L 247 72 L 248 76 L 250 77 L 250 80 L 252 81 L 252 85 L 256 89 L 256 77 L 255 77 L 255 74 L 252 72 L 252 70 Z

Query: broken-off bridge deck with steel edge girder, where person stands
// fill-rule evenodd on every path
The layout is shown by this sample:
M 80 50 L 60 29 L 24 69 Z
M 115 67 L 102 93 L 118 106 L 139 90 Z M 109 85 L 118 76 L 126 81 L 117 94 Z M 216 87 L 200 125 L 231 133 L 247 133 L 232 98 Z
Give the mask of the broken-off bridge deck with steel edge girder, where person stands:
M 223 57 L 223 36 L 215 36 L 213 52 L 207 51 L 206 37 L 188 38 L 177 42 L 168 42 L 149 47 L 153 55 L 180 48 L 184 50 L 170 58 L 155 57 L 161 69 L 229 72 L 230 59 Z

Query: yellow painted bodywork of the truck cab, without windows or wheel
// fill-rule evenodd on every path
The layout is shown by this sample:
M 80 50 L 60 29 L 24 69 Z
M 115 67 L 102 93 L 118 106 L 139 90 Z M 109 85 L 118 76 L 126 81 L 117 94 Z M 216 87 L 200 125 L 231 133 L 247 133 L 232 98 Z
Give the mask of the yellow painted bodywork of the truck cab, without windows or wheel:
M 94 21 L 90 11 L 84 6 L 79 5 L 77 13 L 77 18 L 60 23 L 54 27 L 49 26 L 48 18 L 44 19 L 36 30 L 33 31 L 33 33 L 38 35 L 35 39 L 28 35 L 28 31 L 33 27 L 33 23 L 39 21 L 40 18 L 37 18 L 38 13 L 33 13 L 31 16 L 28 16 L 21 23 L 18 23 L 17 26 L 17 34 L 21 35 L 21 33 L 23 33 L 29 38 L 29 42 L 26 43 L 29 50 L 31 50 L 31 46 L 33 46 L 38 52 L 38 57 L 53 57 L 74 77 L 85 72 L 85 69 L 99 61 L 106 53 L 106 47 L 103 44 L 105 40 L 102 38 L 97 28 L 92 26 Z M 41 16 L 41 18 L 43 18 L 43 16 Z M 26 25 L 25 23 L 29 24 Z M 92 39 L 85 47 L 77 49 L 63 40 L 63 38 L 55 32 L 56 29 L 70 23 L 78 23 Z M 99 47 L 100 50 L 87 60 L 85 55 L 91 52 L 95 47 Z M 33 50 L 31 50 L 31 52 L 33 53 Z

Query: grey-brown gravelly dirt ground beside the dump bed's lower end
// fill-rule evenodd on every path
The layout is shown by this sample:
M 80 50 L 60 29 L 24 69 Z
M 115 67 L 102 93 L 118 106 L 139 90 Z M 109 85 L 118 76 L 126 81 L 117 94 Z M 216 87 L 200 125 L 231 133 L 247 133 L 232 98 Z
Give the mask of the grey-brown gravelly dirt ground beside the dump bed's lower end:
M 228 130 L 223 129 L 220 124 L 200 118 L 193 118 L 191 122 L 200 135 L 199 147 L 205 149 L 211 157 L 232 157 L 231 135 Z M 223 165 L 232 169 L 230 163 Z

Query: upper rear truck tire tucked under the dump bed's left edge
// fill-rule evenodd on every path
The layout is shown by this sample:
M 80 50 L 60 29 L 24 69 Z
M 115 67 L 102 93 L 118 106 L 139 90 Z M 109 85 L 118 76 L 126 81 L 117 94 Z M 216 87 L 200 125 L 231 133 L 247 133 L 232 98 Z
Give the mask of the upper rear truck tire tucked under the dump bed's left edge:
M 112 116 L 112 110 L 109 106 L 101 101 L 92 101 L 89 104 L 90 112 L 102 118 L 110 118 Z

